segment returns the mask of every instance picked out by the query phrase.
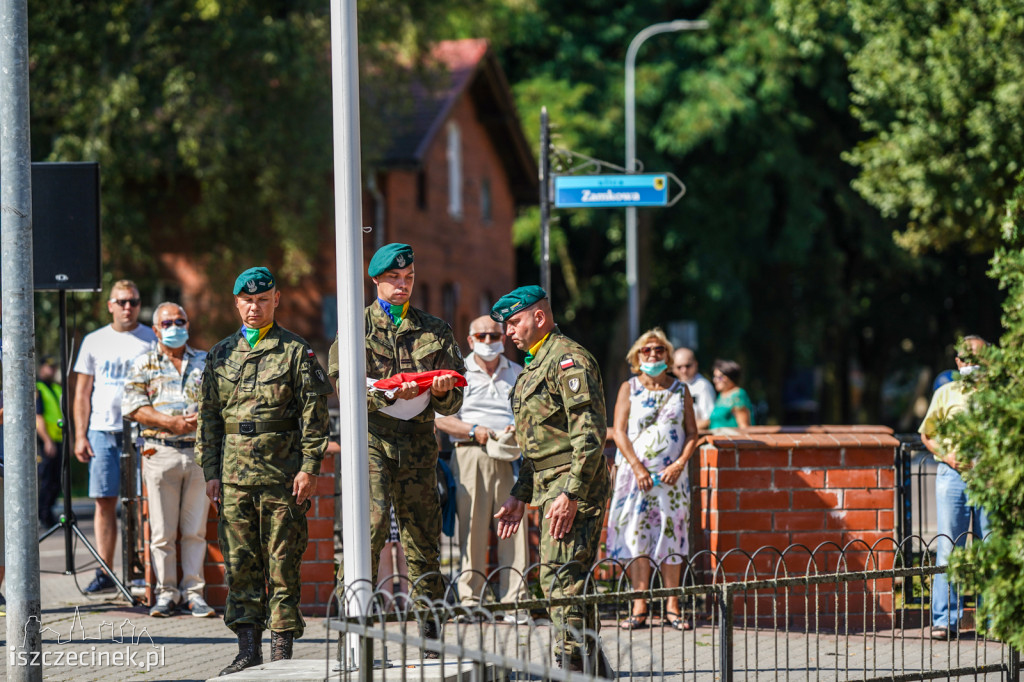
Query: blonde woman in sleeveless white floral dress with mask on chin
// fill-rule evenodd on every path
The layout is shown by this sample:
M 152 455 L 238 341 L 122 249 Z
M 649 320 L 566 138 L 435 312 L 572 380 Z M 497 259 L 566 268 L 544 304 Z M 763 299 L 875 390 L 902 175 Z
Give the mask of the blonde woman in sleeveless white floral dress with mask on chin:
M 678 587 L 689 551 L 690 491 L 686 463 L 696 449 L 696 417 L 686 385 L 669 373 L 672 343 L 655 328 L 626 355 L 636 376 L 623 383 L 615 401 L 618 446 L 615 487 L 608 511 L 608 557 L 628 564 L 634 590 L 650 585 L 651 564 L 665 587 Z M 662 624 L 692 630 L 679 597 L 669 597 Z M 647 627 L 647 601 L 633 602 L 624 630 Z

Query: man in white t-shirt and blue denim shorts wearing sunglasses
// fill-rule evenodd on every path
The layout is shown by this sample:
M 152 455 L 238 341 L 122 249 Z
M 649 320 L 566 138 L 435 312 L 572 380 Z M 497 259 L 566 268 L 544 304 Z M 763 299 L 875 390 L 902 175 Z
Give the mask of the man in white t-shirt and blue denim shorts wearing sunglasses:
M 135 283 L 114 283 L 106 301 L 112 322 L 82 339 L 75 363 L 75 457 L 89 464 L 89 497 L 96 501 L 96 551 L 111 567 L 118 542 L 116 510 L 121 489 L 121 398 L 125 378 L 132 360 L 157 341 L 150 327 L 138 324 L 140 305 Z M 85 591 L 109 592 L 114 587 L 111 577 L 97 568 Z

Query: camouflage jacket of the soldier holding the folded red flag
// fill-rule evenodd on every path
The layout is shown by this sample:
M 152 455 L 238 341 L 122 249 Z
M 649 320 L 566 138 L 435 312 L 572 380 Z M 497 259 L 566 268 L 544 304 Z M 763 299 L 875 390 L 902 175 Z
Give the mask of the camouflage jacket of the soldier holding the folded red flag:
M 367 330 L 367 378 L 387 379 L 406 372 L 455 370 L 466 374 L 466 364 L 455 342 L 447 323 L 412 306 L 401 325 L 391 318 L 374 301 L 365 312 Z M 328 370 L 337 378 L 338 341 L 331 346 Z M 437 440 L 434 438 L 434 413 L 455 415 L 462 408 L 463 389 L 454 388 L 444 397 L 430 396 L 427 407 L 416 417 L 404 421 L 382 414 L 389 400 L 381 391 L 367 391 L 370 413 L 370 452 L 378 453 L 400 466 L 426 468 L 437 466 Z

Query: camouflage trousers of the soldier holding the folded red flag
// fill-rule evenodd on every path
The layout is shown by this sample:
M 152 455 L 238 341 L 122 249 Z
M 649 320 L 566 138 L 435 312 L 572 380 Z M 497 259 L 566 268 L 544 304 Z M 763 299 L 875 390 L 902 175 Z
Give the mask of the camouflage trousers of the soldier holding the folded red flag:
M 395 460 L 370 453 L 370 557 L 374 580 L 381 550 L 391 534 L 391 505 L 398 521 L 398 537 L 409 564 L 414 600 L 444 598 L 441 582 L 441 503 L 437 495 L 437 469 L 400 467 Z M 345 564 L 338 569 L 344 585 Z

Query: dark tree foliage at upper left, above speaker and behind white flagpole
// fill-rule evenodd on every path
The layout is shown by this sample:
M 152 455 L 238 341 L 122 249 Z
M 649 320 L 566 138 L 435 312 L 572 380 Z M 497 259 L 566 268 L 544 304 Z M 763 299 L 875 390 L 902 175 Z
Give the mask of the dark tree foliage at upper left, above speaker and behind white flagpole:
M 364 91 L 395 92 L 395 55 L 414 61 L 450 22 L 471 24 L 474 4 L 361 3 Z M 329 11 L 309 0 L 33 8 L 33 157 L 100 163 L 109 269 L 146 280 L 157 250 L 181 250 L 205 255 L 215 279 L 268 255 L 286 279 L 310 271 L 333 206 Z M 384 137 L 362 120 L 367 139 Z

